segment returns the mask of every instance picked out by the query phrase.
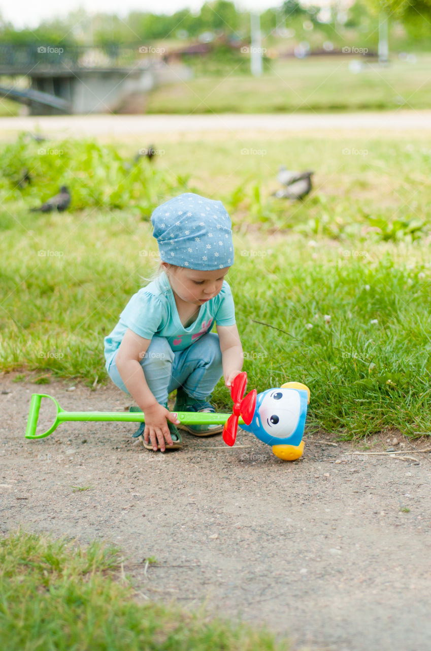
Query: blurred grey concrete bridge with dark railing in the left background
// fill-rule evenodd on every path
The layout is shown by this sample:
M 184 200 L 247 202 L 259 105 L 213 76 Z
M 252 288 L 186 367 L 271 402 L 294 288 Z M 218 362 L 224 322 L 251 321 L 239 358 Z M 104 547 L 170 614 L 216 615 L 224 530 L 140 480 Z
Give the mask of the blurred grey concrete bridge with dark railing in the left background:
M 112 113 L 153 87 L 191 76 L 168 66 L 159 48 L 68 48 L 0 45 L 0 75 L 27 77 L 29 87 L 0 87 L 0 96 L 31 115 Z

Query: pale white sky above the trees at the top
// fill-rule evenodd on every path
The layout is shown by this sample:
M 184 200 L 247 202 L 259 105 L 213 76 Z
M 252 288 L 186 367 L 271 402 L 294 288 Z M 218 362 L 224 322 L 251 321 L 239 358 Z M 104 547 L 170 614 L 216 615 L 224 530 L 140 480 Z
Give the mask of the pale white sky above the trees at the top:
M 235 0 L 241 9 L 265 10 L 281 5 L 282 0 Z M 84 7 L 88 12 L 105 12 L 125 16 L 131 10 L 173 14 L 179 9 L 199 9 L 203 0 L 0 0 L 3 20 L 15 27 L 36 27 L 41 20 L 66 16 L 70 11 Z

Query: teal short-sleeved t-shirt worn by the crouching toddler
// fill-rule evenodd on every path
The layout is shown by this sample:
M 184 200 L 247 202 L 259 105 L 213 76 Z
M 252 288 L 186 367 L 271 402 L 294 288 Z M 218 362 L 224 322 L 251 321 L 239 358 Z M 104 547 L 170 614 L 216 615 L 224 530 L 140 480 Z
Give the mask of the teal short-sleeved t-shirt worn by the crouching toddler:
M 132 296 L 120 314 L 118 324 L 105 337 L 106 368 L 109 368 L 127 328 L 144 339 L 152 339 L 155 335 L 166 337 L 175 352 L 188 348 L 202 335 L 211 332 L 215 323 L 218 326 L 235 324 L 235 307 L 226 281 L 223 281 L 217 296 L 200 306 L 196 321 L 191 326 L 184 327 L 179 319 L 168 277 L 162 273 L 155 281 Z

